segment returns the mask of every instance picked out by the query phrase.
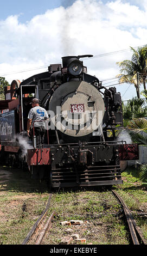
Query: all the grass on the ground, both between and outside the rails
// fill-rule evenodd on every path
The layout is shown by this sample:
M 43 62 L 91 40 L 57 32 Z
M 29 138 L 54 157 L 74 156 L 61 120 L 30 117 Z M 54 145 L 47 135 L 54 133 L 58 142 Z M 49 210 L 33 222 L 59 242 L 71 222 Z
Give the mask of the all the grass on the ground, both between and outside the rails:
M 1 168 L 11 174 L 0 184 L 0 243 L 20 245 L 41 215 L 48 200 L 46 183 L 31 180 L 29 173 L 19 169 Z M 0 174 L 1 174 L 0 169 Z M 146 187 L 138 178 L 138 170 L 126 169 L 122 173 L 124 184 L 113 186 L 131 211 L 147 212 Z M 126 222 L 114 216 L 121 209 L 110 190 L 80 188 L 54 192 L 48 216 L 55 211 L 53 228 L 44 244 L 57 245 L 67 236 L 66 229 L 86 239 L 86 244 L 128 245 L 130 243 Z M 62 221 L 82 220 L 81 225 L 62 226 Z M 136 217 L 147 239 L 147 222 Z M 77 241 L 73 240 L 73 243 Z M 80 242 L 78 242 L 80 243 Z

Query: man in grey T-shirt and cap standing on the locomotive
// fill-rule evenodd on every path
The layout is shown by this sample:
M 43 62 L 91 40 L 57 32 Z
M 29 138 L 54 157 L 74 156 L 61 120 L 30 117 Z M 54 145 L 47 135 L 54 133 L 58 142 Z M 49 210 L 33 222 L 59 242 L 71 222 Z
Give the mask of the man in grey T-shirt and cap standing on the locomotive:
M 31 101 L 31 105 L 32 108 L 28 114 L 27 133 L 29 136 L 31 129 L 31 136 L 36 136 L 36 148 L 40 148 L 40 146 L 43 145 L 43 138 L 45 133 L 44 120 L 47 120 L 49 117 L 46 109 L 40 107 L 39 99 L 34 98 Z

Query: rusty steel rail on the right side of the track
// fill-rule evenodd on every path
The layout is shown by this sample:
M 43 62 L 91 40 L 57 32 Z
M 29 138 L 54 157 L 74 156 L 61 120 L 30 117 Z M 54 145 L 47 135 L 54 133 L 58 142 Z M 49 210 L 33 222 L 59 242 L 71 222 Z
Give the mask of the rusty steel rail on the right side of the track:
M 119 194 L 114 190 L 112 190 L 112 192 L 115 194 L 115 196 L 119 199 L 120 203 L 123 205 L 123 209 L 124 209 L 124 212 L 125 212 L 127 223 L 129 225 L 130 234 L 131 234 L 131 237 L 132 237 L 133 244 L 134 245 L 139 245 L 140 244 L 139 240 L 138 240 L 138 238 L 139 238 L 143 242 L 143 244 L 146 245 L 146 241 L 145 241 L 145 239 L 142 235 L 142 232 L 141 232 L 140 228 L 137 227 L 136 221 L 133 218 L 133 215 L 131 214 L 131 211 L 129 210 L 127 205 L 124 203 L 123 199 L 119 196 Z

